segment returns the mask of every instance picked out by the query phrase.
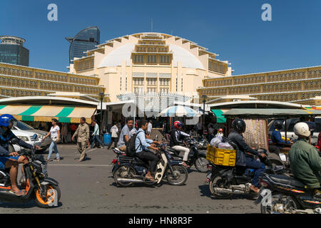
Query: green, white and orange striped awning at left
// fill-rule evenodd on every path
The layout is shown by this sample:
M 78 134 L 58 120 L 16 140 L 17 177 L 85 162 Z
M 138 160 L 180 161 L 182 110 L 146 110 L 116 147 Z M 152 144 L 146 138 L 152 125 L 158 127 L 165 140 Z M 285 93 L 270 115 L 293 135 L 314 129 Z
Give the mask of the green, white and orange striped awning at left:
M 79 123 L 80 118 L 90 119 L 96 108 L 55 105 L 0 105 L 0 115 L 11 114 L 17 120 L 50 122 L 56 118 L 61 123 Z

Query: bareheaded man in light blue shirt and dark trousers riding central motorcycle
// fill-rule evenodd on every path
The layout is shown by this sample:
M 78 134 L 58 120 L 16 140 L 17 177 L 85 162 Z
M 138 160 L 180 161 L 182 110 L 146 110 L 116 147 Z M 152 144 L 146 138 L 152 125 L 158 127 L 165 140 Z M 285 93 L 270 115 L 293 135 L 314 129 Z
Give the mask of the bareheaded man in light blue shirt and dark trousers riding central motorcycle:
M 159 161 L 158 156 L 149 149 L 153 149 L 158 151 L 158 147 L 153 145 L 152 143 L 160 143 L 157 141 L 153 141 L 146 138 L 146 130 L 148 128 L 148 121 L 141 120 L 138 121 L 138 131 L 136 135 L 135 148 L 136 148 L 136 156 L 141 160 L 151 161 L 148 167 L 148 172 L 145 177 L 148 180 L 155 182 L 156 180 L 153 178 L 152 173 L 156 171 L 156 166 Z

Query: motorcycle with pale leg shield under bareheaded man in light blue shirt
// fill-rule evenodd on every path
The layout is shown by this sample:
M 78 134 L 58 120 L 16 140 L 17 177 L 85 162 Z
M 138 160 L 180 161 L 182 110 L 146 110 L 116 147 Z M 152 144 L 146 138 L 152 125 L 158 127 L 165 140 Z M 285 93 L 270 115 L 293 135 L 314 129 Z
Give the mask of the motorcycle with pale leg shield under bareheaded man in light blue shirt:
M 166 178 L 170 185 L 184 185 L 188 179 L 188 171 L 183 166 L 183 162 L 171 160 L 170 155 L 165 150 L 165 145 L 158 145 L 160 150 L 157 155 L 159 160 L 154 179 L 152 182 L 146 179 L 148 172 L 148 162 L 138 157 L 128 157 L 123 152 L 114 149 L 117 159 L 113 160 L 113 178 L 117 185 L 121 187 L 130 187 L 133 183 L 145 183 L 147 185 L 157 185 Z

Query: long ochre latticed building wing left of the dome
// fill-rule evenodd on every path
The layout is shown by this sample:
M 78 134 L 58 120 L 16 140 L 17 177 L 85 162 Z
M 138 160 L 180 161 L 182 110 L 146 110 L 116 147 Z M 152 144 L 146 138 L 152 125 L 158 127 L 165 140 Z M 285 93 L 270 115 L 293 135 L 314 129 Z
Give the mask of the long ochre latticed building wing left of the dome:
M 74 98 L 99 100 L 98 94 L 106 93 L 99 86 L 98 76 L 83 76 L 28 66 L 0 63 L 1 98 L 46 96 L 56 92 L 73 92 Z M 72 98 L 73 98 L 72 97 Z

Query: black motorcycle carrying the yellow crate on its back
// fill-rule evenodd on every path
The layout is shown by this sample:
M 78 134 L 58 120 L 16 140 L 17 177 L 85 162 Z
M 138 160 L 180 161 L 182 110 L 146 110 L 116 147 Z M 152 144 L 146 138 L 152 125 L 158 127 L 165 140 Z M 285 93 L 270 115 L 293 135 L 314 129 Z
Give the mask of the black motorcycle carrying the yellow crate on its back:
M 227 139 L 225 138 L 225 140 Z M 230 140 L 227 141 L 237 150 L 237 145 L 230 142 Z M 265 149 L 259 149 L 258 152 L 268 155 Z M 273 165 L 267 156 L 264 158 L 257 157 L 257 159 L 260 159 L 265 164 L 265 172 L 273 174 L 285 173 L 283 165 Z M 214 165 L 211 162 L 208 165 L 208 169 L 211 171 L 206 175 L 206 182 L 208 182 L 211 194 L 218 199 L 228 199 L 235 194 L 257 196 L 255 192 L 250 190 L 255 170 L 238 166 Z

